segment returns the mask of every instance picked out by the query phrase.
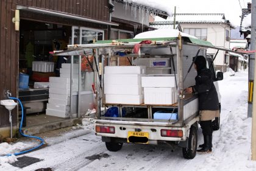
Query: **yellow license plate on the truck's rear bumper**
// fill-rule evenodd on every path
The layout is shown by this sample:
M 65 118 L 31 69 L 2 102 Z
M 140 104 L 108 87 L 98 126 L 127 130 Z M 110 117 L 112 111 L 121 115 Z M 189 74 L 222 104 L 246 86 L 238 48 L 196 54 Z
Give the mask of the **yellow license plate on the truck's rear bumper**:
M 148 144 L 149 133 L 128 131 L 127 142 L 130 142 L 129 139 L 133 139 L 134 143 Z

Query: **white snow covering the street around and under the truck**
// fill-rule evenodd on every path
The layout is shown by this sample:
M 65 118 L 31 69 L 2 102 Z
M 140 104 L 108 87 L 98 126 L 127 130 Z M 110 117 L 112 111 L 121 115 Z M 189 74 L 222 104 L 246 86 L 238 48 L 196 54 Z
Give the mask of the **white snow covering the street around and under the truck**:
M 26 156 L 43 159 L 19 169 L 9 162 L 15 156 L 0 157 L 0 170 L 35 170 L 51 167 L 53 170 L 243 170 L 255 171 L 256 161 L 251 161 L 251 118 L 247 118 L 247 71 L 224 73 L 219 82 L 221 91 L 221 128 L 213 133 L 213 152 L 197 154 L 187 160 L 181 148 L 171 152 L 168 145 L 124 144 L 119 152 L 108 152 L 99 136 L 93 133 L 91 120 L 74 127 L 74 132 L 85 130 L 88 134 L 27 153 Z M 199 129 L 199 143 L 202 133 Z M 72 132 L 71 132 L 72 133 Z M 47 139 L 47 138 L 46 138 Z M 58 138 L 57 138 L 58 139 Z M 47 140 L 46 140 L 47 141 Z M 31 145 L 27 143 L 27 145 Z M 19 150 L 15 145 L 0 144 Z M 15 149 L 16 148 L 16 149 Z M 4 153 L 8 153 L 5 150 Z

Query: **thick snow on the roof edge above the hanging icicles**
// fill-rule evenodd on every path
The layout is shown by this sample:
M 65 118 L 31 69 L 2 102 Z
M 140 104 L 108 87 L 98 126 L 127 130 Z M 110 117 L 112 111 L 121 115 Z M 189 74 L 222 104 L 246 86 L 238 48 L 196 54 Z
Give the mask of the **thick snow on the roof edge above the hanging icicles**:
M 163 12 L 166 12 L 169 16 L 172 16 L 172 7 L 171 1 L 169 0 L 123 0 L 124 2 L 129 2 L 132 4 L 137 4 L 137 5 L 144 5 L 146 7 L 150 7 L 152 9 L 157 9 Z

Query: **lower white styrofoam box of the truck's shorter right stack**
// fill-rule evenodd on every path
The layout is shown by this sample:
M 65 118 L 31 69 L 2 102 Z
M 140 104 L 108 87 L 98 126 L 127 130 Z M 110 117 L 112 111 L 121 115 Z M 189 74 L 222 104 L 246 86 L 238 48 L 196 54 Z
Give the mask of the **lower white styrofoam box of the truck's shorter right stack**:
M 144 103 L 151 105 L 172 105 L 177 102 L 176 88 L 144 88 Z

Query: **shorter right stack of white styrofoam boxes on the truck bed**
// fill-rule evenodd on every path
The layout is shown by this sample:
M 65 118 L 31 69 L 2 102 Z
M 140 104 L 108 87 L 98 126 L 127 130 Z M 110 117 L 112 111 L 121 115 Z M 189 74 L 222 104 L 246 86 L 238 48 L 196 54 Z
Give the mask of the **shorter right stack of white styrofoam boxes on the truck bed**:
M 171 105 L 177 102 L 174 74 L 147 75 L 141 77 L 144 88 L 144 103 L 150 105 Z

